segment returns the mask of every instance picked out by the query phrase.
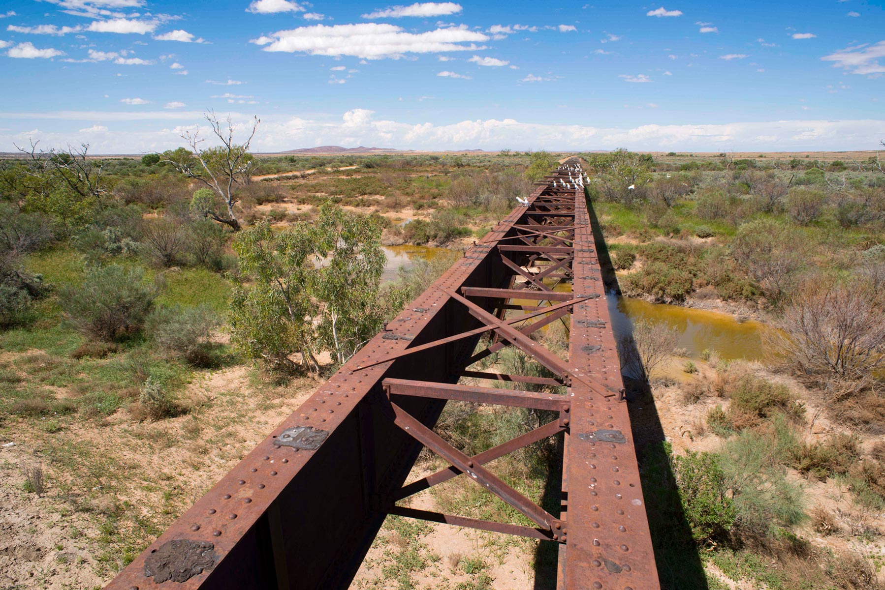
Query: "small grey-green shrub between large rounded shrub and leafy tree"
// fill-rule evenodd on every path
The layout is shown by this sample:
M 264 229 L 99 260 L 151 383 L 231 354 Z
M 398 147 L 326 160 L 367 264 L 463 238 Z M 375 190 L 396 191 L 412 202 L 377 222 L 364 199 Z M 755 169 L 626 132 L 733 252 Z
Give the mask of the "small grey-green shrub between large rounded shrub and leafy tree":
M 159 349 L 181 355 L 189 364 L 211 364 L 212 329 L 219 318 L 206 305 L 158 307 L 147 318 L 147 333 Z

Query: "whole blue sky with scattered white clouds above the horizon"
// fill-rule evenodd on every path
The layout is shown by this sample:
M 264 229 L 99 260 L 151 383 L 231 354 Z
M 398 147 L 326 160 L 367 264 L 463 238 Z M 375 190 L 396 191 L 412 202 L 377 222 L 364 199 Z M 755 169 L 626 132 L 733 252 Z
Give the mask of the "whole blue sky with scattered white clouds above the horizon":
M 885 139 L 885 10 L 864 0 L 4 6 L 0 150 L 167 149 L 210 108 L 257 114 L 263 151 Z

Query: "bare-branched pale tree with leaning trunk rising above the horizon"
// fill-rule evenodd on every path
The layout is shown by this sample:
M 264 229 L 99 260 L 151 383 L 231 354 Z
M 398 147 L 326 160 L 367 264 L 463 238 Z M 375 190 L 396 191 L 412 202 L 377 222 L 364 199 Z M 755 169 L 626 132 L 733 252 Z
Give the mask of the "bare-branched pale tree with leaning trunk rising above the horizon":
M 166 151 L 161 157 L 188 178 L 198 180 L 211 189 L 221 199 L 221 206 L 227 209 L 227 213 L 219 211 L 221 207 L 216 206 L 216 203 L 201 200 L 195 205 L 205 216 L 239 230 L 240 221 L 234 212 L 234 205 L 237 203 L 234 196 L 235 185 L 248 182 L 255 167 L 255 158 L 250 154 L 249 146 L 260 119 L 255 117 L 252 131 L 244 143 L 234 142 L 236 126 L 229 116 L 226 119 L 227 128 L 222 128 L 222 122 L 215 116 L 215 111 L 208 111 L 205 119 L 212 126 L 212 133 L 221 140 L 220 146 L 201 149 L 200 144 L 205 140 L 199 136 L 199 131 L 193 134 L 186 131 L 181 134 L 181 138 L 188 142 L 190 151 L 175 149 Z

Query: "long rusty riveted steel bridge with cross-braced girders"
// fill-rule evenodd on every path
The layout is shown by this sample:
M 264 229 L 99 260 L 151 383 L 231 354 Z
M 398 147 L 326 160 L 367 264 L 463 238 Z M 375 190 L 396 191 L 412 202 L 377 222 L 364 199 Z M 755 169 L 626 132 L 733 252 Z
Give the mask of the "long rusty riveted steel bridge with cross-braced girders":
M 556 543 L 563 590 L 659 588 L 584 178 L 573 159 L 538 183 L 527 203 L 521 200 L 107 588 L 346 588 L 389 514 Z M 553 288 L 561 283 L 571 290 Z M 556 321 L 570 322 L 567 360 L 532 338 Z M 553 376 L 473 366 L 504 347 L 523 351 Z M 493 387 L 501 382 L 512 388 Z M 557 390 L 565 393 L 550 393 Z M 552 419 L 467 456 L 434 431 L 450 400 L 549 410 Z M 563 437 L 562 492 L 561 508 L 551 514 L 485 465 L 555 436 Z M 425 447 L 450 466 L 405 484 Z M 403 505 L 457 477 L 473 479 L 534 526 Z

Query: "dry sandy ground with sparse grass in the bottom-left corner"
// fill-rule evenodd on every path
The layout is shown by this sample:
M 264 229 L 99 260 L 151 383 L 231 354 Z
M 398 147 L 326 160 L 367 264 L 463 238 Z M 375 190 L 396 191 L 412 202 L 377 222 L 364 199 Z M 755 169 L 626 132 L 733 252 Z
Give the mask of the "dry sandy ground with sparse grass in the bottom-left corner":
M 139 423 L 119 410 L 57 433 L 7 422 L 0 444 L 15 446 L 0 447 L 0 588 L 103 586 L 125 552 L 139 553 L 315 385 L 273 387 L 235 366 L 194 379 L 180 418 Z M 23 489 L 28 464 L 42 465 L 42 497 Z

